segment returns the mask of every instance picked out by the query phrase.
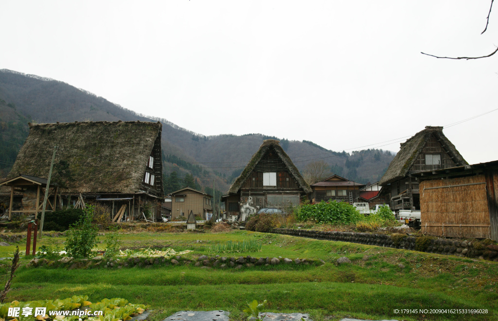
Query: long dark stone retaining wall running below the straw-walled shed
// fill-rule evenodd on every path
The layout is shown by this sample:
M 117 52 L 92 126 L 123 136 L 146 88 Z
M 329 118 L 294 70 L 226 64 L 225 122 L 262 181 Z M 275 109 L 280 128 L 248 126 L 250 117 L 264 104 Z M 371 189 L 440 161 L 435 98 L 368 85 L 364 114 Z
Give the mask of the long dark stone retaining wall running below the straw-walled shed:
M 435 237 L 410 237 L 406 235 L 386 235 L 354 232 L 325 232 L 315 230 L 272 229 L 271 233 L 298 236 L 317 240 L 344 241 L 367 245 L 410 249 L 421 252 L 476 257 L 498 261 L 498 245 L 485 241 L 467 241 Z

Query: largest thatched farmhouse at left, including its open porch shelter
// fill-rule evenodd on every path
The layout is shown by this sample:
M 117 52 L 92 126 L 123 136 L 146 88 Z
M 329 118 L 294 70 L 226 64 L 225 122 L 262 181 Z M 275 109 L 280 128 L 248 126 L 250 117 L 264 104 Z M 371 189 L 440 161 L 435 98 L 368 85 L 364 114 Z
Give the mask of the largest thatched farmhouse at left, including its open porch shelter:
M 159 122 L 139 121 L 29 124 L 0 185 L 23 194 L 20 213 L 40 212 L 55 148 L 49 210 L 74 206 L 82 198 L 108 206 L 113 218 L 121 210 L 128 220 L 143 218 L 142 213 L 160 219 L 161 129 Z

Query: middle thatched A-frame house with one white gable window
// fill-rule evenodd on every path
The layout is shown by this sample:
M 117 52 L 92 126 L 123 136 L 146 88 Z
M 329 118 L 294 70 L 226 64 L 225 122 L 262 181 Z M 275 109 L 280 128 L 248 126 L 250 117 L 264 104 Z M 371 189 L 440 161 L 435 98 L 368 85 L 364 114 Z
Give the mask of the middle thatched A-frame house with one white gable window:
M 245 221 L 264 207 L 298 205 L 311 192 L 279 141 L 270 139 L 263 141 L 222 201 L 228 218 Z

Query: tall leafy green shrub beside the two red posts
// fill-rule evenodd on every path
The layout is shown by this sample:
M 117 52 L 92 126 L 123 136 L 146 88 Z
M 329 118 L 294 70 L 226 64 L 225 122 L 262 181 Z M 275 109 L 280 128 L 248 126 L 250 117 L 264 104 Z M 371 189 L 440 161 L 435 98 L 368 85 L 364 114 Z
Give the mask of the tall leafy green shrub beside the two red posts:
M 97 227 L 92 224 L 94 207 L 88 205 L 81 219 L 67 232 L 64 249 L 68 256 L 89 257 L 97 243 Z

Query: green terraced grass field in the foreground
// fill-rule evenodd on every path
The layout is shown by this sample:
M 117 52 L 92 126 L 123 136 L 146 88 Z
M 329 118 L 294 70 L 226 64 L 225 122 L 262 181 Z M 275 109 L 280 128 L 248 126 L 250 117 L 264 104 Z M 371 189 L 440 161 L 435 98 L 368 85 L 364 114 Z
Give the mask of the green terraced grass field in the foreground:
M 101 241 L 104 237 L 99 237 Z M 212 244 L 256 240 L 262 251 L 222 256 L 322 259 L 320 266 L 200 269 L 168 266 L 118 269 L 27 268 L 16 272 L 7 300 L 40 300 L 88 295 L 90 301 L 122 297 L 150 305 L 149 320 L 180 310 L 227 310 L 234 320 L 252 300 L 267 300 L 268 312 L 310 313 L 314 320 L 343 317 L 397 320 L 497 320 L 498 264 L 346 242 L 319 241 L 247 231 L 229 233 L 130 233 L 124 247 L 191 249 L 184 256 L 209 255 Z M 64 238 L 44 237 L 38 245 Z M 98 244 L 105 247 L 104 244 Z M 23 252 L 24 244 L 19 244 Z M 12 256 L 15 246 L 2 246 Z M 213 254 L 214 255 L 214 254 Z M 337 266 L 341 256 L 353 263 Z M 27 263 L 27 258 L 21 260 Z M 401 267 L 398 264 L 402 264 Z M 403 267 L 404 266 L 404 267 Z M 488 309 L 480 314 L 399 314 L 394 309 Z

